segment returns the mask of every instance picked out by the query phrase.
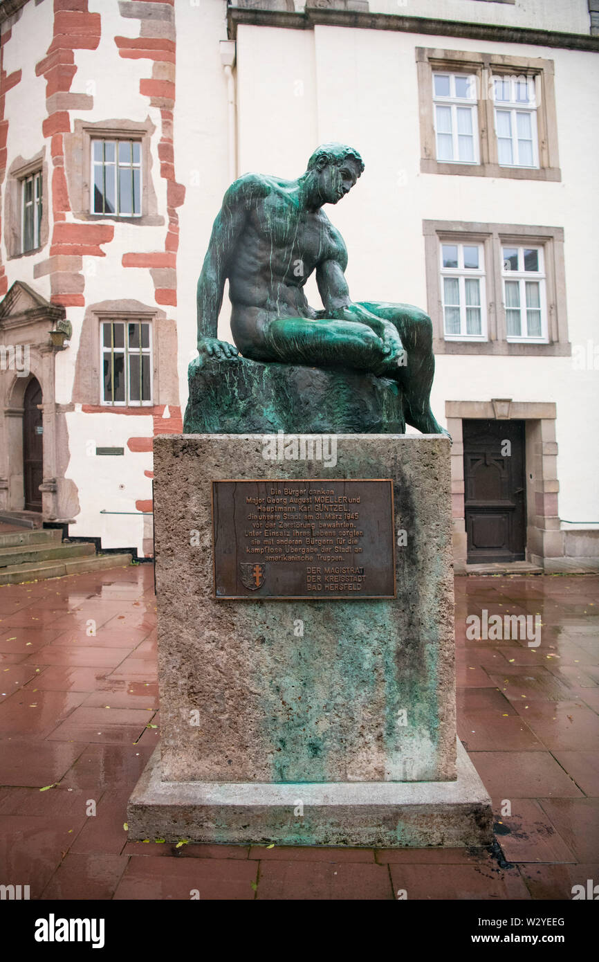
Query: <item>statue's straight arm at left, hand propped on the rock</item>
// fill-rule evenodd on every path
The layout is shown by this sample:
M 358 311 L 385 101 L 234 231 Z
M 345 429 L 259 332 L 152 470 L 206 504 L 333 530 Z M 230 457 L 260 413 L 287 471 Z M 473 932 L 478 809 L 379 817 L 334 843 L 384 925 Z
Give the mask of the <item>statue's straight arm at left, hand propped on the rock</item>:
M 225 193 L 197 285 L 198 352 L 219 359 L 237 358 L 237 347 L 218 341 L 218 315 L 229 260 L 243 230 L 251 199 L 251 182 L 243 177 Z

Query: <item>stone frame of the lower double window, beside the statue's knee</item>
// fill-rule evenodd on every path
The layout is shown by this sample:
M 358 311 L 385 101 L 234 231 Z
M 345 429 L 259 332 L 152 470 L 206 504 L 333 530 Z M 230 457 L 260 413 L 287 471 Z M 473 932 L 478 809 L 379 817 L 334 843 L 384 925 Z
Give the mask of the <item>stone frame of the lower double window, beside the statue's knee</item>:
M 433 321 L 433 350 L 436 354 L 501 354 L 514 356 L 569 357 L 563 228 L 522 224 L 475 223 L 468 221 L 423 220 L 428 313 Z M 440 290 L 439 245 L 481 243 L 486 266 L 487 341 L 445 337 Z M 545 340 L 508 337 L 503 285 L 503 247 L 542 247 L 546 327 Z M 537 273 L 532 274 L 537 277 Z M 541 279 L 541 278 L 539 278 Z

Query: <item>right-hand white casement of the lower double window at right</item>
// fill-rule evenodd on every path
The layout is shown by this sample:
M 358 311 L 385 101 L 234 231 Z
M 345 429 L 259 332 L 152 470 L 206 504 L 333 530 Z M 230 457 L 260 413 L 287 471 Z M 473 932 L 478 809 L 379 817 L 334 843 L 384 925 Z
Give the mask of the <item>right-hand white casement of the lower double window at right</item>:
M 503 288 L 509 341 L 547 340 L 545 275 L 540 247 L 503 247 Z

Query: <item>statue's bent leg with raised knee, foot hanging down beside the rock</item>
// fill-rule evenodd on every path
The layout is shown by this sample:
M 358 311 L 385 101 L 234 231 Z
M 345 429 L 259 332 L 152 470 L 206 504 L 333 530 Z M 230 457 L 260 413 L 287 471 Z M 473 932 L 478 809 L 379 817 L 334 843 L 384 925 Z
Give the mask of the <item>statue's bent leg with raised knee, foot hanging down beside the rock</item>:
M 435 375 L 433 324 L 431 318 L 412 304 L 362 302 L 362 307 L 388 320 L 397 328 L 408 358 L 405 367 L 397 367 L 392 377 L 402 386 L 406 421 L 423 434 L 446 434 L 431 410 L 431 388 Z

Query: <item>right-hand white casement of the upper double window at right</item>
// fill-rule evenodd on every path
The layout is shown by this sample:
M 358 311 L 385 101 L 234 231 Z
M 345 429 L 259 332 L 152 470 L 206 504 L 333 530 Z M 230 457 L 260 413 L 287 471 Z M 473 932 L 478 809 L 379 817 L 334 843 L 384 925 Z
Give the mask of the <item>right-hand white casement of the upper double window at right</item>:
M 538 166 L 534 77 L 494 77 L 495 133 L 501 166 Z

